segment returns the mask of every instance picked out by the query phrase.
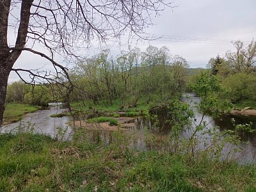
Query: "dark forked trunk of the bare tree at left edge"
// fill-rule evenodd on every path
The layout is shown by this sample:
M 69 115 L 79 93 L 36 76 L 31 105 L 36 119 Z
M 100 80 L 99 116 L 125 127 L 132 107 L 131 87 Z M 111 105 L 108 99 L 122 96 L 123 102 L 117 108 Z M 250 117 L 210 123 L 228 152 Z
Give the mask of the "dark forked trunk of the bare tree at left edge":
M 15 48 L 10 52 L 7 42 L 8 16 L 10 13 L 11 0 L 0 1 L 0 127 L 3 124 L 4 104 L 8 77 L 12 67 L 19 58 L 22 49 L 26 45 L 30 8 L 33 0 L 22 0 L 20 8 L 20 24 L 15 43 Z

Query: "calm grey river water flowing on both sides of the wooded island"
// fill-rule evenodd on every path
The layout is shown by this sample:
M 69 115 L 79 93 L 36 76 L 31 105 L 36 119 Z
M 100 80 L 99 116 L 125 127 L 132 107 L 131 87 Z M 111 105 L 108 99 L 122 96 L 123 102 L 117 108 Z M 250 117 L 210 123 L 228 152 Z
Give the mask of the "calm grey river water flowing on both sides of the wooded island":
M 189 104 L 189 106 L 195 112 L 196 121 L 192 124 L 191 129 L 186 129 L 182 131 L 180 137 L 188 139 L 195 129 L 196 125 L 200 124 L 202 120 L 202 114 L 196 109 L 196 102 L 200 102 L 200 99 L 193 93 L 184 93 L 182 95 L 182 101 Z M 72 120 L 70 116 L 63 116 L 61 118 L 52 118 L 51 115 L 58 114 L 65 111 L 59 104 L 51 104 L 49 109 L 37 111 L 35 113 L 29 113 L 24 115 L 24 118 L 20 122 L 16 122 L 10 125 L 6 125 L 2 128 L 1 132 L 12 132 L 17 131 L 19 127 L 20 131 L 34 131 L 41 134 L 48 134 L 52 138 L 58 138 L 61 140 L 72 140 L 72 127 L 67 123 Z M 236 120 L 237 124 L 245 124 L 253 122 L 253 127 L 256 129 L 256 118 L 244 117 L 244 116 L 223 116 L 222 120 L 214 120 L 211 116 L 204 116 L 204 122 L 207 129 L 213 129 L 213 127 L 218 126 L 217 131 L 223 131 L 227 129 L 232 129 L 231 118 Z M 163 116 L 160 117 L 163 120 Z M 137 148 L 138 150 L 151 150 L 154 148 L 166 147 L 159 145 L 159 143 L 164 143 L 163 141 L 168 141 L 168 132 L 159 131 L 154 127 L 154 122 L 150 122 L 143 117 L 136 116 L 125 122 L 125 124 L 131 124 L 131 126 L 126 126 L 125 131 L 127 134 L 132 135 L 132 140 L 130 146 L 132 148 Z M 60 129 L 61 127 L 61 129 Z M 168 129 L 171 129 L 168 125 Z M 154 140 L 147 142 L 148 136 L 154 138 Z M 198 132 L 196 134 L 197 138 L 202 141 L 199 142 L 198 148 L 204 150 L 207 145 L 205 142 L 210 142 L 211 136 L 209 134 L 203 134 Z M 102 131 L 100 137 L 106 143 L 111 142 L 111 132 Z M 232 143 L 226 143 L 222 150 L 221 159 L 232 159 L 241 164 L 246 163 L 256 163 L 256 134 L 243 134 L 241 135 L 243 142 L 235 146 Z M 170 143 L 169 143 L 170 144 Z M 208 143 L 209 144 L 209 143 Z M 237 152 L 232 152 L 234 149 L 239 149 Z

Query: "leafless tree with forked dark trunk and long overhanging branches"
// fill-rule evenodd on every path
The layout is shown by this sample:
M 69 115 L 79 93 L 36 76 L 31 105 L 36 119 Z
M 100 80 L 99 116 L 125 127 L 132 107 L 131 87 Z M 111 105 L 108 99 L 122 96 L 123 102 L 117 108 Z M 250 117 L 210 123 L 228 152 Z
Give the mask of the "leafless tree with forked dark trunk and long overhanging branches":
M 172 3 L 167 0 L 0 0 L 0 125 L 12 70 L 17 74 L 28 72 L 33 80 L 52 78 L 49 74 L 13 68 L 22 51 L 51 61 L 57 74 L 68 79 L 68 69 L 54 61 L 57 54 L 77 60 L 76 51 L 89 47 L 92 41 L 117 40 L 124 33 L 129 37 L 140 36 L 152 24 L 151 17 L 166 6 L 172 7 Z M 15 45 L 8 44 L 9 28 L 15 29 Z M 48 53 L 35 50 L 36 44 L 45 47 Z

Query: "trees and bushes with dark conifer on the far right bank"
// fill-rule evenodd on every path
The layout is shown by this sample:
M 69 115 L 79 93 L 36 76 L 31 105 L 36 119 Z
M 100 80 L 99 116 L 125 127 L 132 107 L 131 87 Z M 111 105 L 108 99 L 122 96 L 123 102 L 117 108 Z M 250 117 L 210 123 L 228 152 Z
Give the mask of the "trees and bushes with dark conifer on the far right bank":
M 256 42 L 252 40 L 233 43 L 235 51 L 227 51 L 225 56 L 211 58 L 211 74 L 220 77 L 230 92 L 233 103 L 242 100 L 256 100 Z

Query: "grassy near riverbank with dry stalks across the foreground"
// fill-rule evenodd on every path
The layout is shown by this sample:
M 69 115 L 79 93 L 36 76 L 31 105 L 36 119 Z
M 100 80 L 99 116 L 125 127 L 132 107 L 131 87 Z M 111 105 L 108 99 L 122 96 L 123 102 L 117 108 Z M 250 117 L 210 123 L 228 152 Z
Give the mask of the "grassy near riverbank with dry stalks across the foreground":
M 255 191 L 256 166 L 38 134 L 0 136 L 0 191 Z M 189 160 L 188 160 L 189 159 Z

